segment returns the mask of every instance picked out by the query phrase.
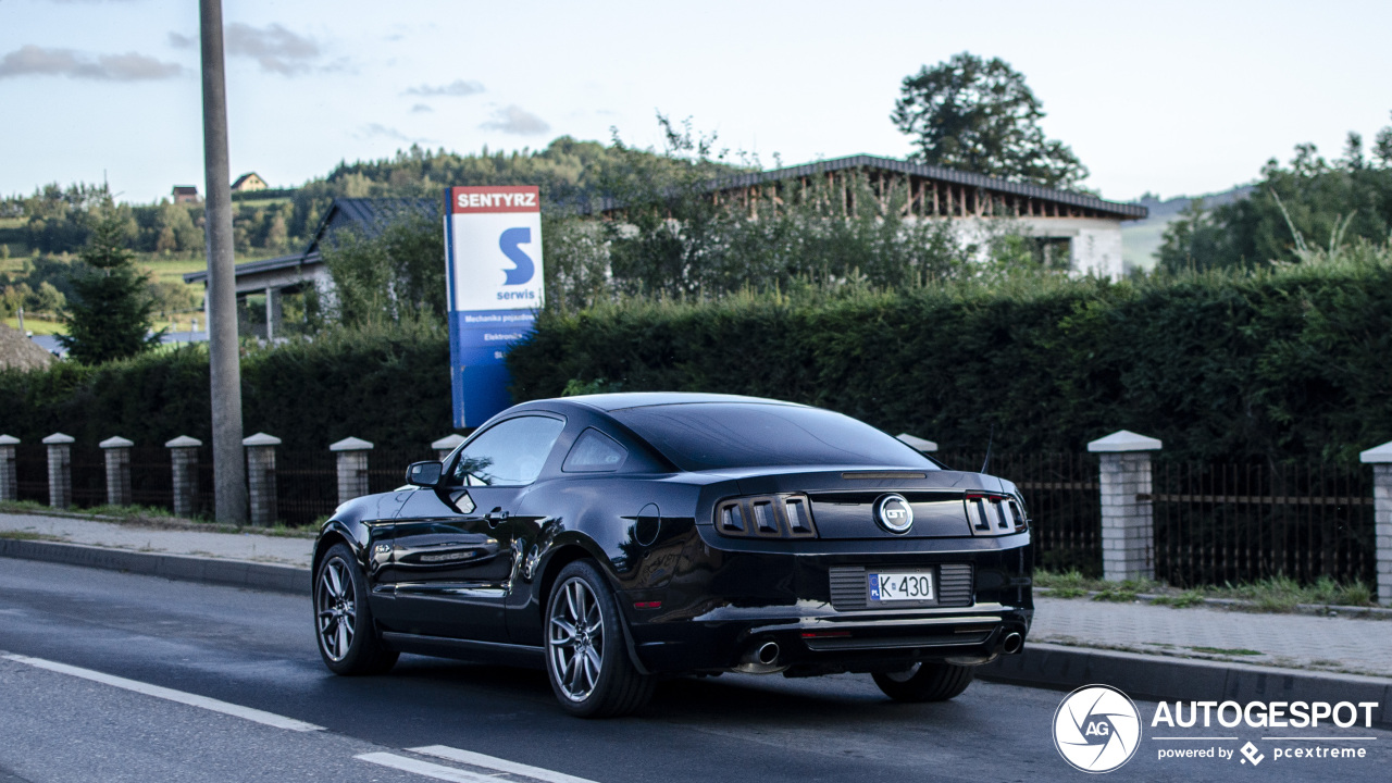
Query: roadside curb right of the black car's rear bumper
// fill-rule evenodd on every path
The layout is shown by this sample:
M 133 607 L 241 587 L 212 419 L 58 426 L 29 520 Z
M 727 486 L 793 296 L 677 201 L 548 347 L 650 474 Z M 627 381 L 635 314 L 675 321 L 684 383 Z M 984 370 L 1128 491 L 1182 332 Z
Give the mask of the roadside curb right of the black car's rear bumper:
M 1377 702 L 1373 723 L 1392 726 L 1392 680 L 1141 655 L 1111 649 L 1027 644 L 979 666 L 977 677 L 995 683 L 1070 691 L 1100 683 L 1153 701 L 1327 701 Z

